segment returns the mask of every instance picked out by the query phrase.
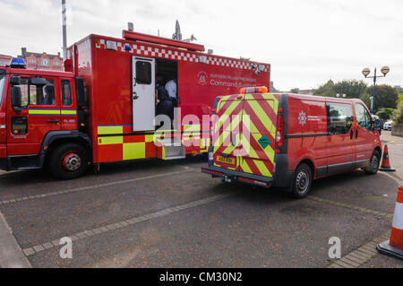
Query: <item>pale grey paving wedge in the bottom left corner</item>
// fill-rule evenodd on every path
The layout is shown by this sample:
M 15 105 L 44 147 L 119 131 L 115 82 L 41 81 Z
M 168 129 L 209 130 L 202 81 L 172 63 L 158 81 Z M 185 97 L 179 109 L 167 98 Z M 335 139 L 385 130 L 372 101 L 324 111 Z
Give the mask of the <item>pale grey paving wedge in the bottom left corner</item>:
M 13 236 L 13 232 L 0 212 L 0 267 L 31 268 L 27 257 Z

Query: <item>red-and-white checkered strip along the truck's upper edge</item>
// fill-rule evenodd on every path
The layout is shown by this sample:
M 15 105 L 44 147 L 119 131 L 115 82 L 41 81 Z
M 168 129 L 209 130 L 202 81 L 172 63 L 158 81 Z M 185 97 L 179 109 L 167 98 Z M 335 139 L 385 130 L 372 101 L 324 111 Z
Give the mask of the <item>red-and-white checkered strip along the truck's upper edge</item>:
M 100 39 L 99 42 L 95 44 L 95 46 L 96 48 L 105 49 L 107 47 L 106 42 L 107 41 L 105 39 Z M 124 53 L 131 53 L 138 56 L 152 56 L 152 57 L 166 58 L 176 61 L 193 62 L 193 63 L 199 62 L 199 56 L 196 53 L 190 51 L 182 52 L 169 48 L 155 48 L 155 47 L 148 47 L 147 45 L 129 44 L 123 42 L 117 42 L 116 45 L 117 45 L 117 51 Z M 124 48 L 126 45 L 131 48 L 130 51 Z M 207 61 L 205 62 L 205 64 L 208 65 L 220 65 L 241 69 L 251 69 L 252 65 L 257 65 L 242 60 L 222 58 L 219 56 L 210 56 L 210 55 L 201 55 L 201 56 L 207 57 Z M 268 71 L 269 71 L 269 65 L 264 65 L 264 72 Z

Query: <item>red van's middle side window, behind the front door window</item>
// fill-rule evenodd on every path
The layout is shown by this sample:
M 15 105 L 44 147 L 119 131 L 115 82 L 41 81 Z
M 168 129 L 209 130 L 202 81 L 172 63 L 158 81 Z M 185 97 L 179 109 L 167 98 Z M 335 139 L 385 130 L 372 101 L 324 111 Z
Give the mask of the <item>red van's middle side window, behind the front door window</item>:
M 347 134 L 353 126 L 353 107 L 350 104 L 327 103 L 328 133 Z

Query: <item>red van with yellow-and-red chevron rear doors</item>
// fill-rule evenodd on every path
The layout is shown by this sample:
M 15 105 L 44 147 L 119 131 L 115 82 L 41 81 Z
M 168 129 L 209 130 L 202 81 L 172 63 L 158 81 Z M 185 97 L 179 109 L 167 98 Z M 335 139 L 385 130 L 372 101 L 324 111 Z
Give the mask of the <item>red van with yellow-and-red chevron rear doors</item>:
M 286 186 L 303 198 L 315 178 L 378 172 L 379 123 L 363 101 L 264 91 L 243 89 L 216 100 L 219 119 L 203 173 L 226 182 Z

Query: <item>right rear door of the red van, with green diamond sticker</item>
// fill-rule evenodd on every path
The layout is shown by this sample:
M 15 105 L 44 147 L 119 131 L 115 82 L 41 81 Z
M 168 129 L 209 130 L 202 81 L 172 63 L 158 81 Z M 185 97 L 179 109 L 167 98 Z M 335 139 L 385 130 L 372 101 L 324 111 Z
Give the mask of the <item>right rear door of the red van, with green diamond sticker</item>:
M 279 99 L 273 94 L 244 96 L 242 172 L 273 176 L 278 109 Z

